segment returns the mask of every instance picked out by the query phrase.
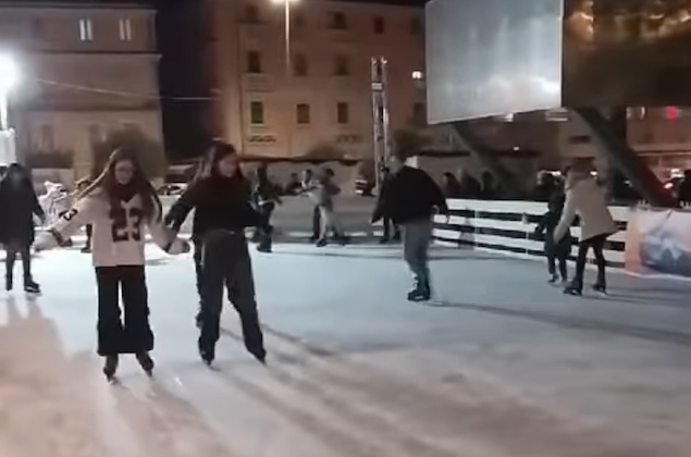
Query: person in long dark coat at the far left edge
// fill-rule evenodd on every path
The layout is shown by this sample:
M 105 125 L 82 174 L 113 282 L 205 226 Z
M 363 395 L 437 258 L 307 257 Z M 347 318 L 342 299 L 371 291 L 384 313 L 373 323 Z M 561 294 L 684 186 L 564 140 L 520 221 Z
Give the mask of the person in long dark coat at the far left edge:
M 24 270 L 24 292 L 38 294 L 40 286 L 32 275 L 30 249 L 36 235 L 34 215 L 45 223 L 46 213 L 28 173 L 17 163 L 11 164 L 0 181 L 0 243 L 7 251 L 4 288 L 9 292 L 14 287 L 14 263 L 18 254 Z

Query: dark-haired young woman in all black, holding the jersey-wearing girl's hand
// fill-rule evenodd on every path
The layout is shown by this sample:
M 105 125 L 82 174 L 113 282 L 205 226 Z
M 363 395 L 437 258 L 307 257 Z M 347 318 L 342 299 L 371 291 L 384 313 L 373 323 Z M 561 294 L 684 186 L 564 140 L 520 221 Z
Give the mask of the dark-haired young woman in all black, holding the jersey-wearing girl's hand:
M 205 163 L 202 173 L 166 217 L 175 227 L 182 225 L 193 209 L 196 214 L 193 236 L 201 245 L 199 356 L 207 365 L 215 358 L 225 286 L 240 318 L 245 347 L 264 362 L 267 351 L 245 228 L 259 226 L 269 232 L 271 228 L 251 205 L 250 184 L 242 173 L 239 157 L 232 145 L 215 143 Z

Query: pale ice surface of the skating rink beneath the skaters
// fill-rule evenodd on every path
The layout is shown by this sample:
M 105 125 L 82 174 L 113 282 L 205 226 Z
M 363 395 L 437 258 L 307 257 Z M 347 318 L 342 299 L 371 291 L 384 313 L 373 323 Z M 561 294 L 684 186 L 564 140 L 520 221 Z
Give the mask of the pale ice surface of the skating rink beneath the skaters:
M 415 305 L 395 247 L 277 245 L 254 267 L 269 368 L 231 307 L 218 369 L 198 361 L 192 260 L 151 247 L 156 378 L 125 359 L 113 386 L 88 256 L 44 254 L 44 295 L 0 302 L 0 456 L 691 455 L 689 283 L 613 274 L 575 298 L 540 262 L 436 250 L 437 298 Z

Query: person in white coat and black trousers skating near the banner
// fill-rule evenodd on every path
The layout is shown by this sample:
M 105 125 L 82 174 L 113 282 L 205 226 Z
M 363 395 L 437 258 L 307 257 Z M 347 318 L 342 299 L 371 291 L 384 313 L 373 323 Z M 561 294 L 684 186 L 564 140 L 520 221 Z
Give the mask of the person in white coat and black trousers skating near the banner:
M 594 289 L 606 293 L 607 264 L 603 250 L 607 238 L 617 232 L 617 226 L 607 206 L 607 188 L 591 176 L 588 171 L 578 168 L 567 172 L 565 187 L 566 202 L 562 219 L 554 231 L 554 240 L 558 243 L 566 236 L 577 215 L 580 219 L 581 237 L 578 244 L 576 275 L 564 293 L 570 295 L 583 293 L 583 271 L 590 248 L 593 249 L 597 265 L 597 280 Z

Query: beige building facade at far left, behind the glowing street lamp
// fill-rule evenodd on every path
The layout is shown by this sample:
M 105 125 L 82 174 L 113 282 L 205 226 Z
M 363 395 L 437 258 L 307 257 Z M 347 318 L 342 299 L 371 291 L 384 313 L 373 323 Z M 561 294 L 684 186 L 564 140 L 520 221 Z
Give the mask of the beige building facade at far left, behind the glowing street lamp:
M 0 2 L 0 49 L 22 73 L 10 123 L 29 163 L 70 158 L 78 177 L 110 131 L 162 143 L 155 17 L 139 4 Z

